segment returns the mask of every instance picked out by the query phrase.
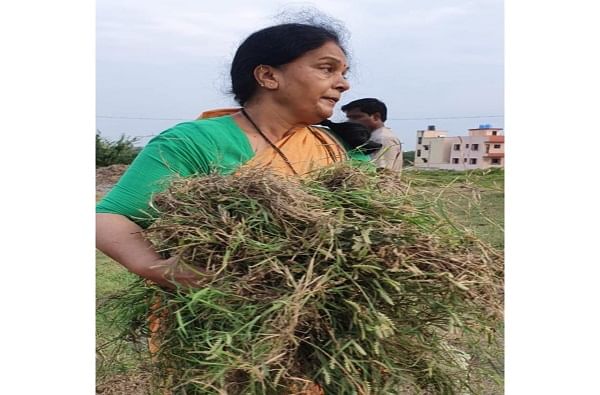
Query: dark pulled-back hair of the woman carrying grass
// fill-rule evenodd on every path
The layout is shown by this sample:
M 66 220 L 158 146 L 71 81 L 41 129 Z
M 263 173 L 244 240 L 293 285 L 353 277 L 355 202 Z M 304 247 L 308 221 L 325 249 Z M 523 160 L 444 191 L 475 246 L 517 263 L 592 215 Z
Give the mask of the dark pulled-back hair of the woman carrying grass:
M 339 34 L 324 26 L 285 23 L 252 33 L 237 49 L 231 63 L 231 90 L 235 101 L 243 106 L 256 92 L 254 69 L 257 66 L 282 66 L 330 41 L 346 53 Z

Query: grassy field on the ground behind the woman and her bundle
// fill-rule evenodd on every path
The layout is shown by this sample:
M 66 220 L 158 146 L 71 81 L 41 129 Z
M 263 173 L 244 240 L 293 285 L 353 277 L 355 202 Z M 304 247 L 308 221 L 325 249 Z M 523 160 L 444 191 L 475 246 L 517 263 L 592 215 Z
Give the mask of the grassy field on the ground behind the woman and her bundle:
M 497 249 L 504 248 L 504 171 L 416 171 L 407 170 L 405 180 L 413 188 L 428 192 L 432 204 L 447 213 L 449 220 L 464 226 L 481 240 Z M 111 294 L 123 290 L 135 280 L 116 262 L 101 252 L 96 254 L 96 300 L 102 303 Z M 132 342 L 111 342 L 122 328 L 113 325 L 113 317 L 96 314 L 97 393 L 144 394 L 148 372 Z M 501 332 L 500 328 L 500 332 Z M 499 348 L 502 348 L 499 340 Z M 502 350 L 496 364 L 502 376 Z M 501 383 L 490 384 L 490 394 L 502 393 Z

